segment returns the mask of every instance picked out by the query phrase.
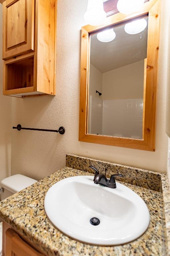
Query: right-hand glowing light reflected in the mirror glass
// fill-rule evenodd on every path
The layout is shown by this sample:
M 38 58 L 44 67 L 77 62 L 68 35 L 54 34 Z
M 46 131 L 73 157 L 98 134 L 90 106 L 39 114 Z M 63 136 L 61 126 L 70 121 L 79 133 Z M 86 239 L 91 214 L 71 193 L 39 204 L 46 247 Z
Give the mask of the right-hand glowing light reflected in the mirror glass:
M 142 32 L 147 26 L 147 21 L 145 19 L 135 20 L 130 23 L 127 23 L 124 26 L 124 30 L 127 34 L 138 34 Z

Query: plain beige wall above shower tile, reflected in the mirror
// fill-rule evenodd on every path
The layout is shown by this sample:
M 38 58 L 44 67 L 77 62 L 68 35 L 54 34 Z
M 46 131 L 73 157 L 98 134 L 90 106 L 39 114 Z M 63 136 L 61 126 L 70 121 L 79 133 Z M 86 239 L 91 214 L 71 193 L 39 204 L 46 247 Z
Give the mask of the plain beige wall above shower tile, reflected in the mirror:
M 143 98 L 144 60 L 116 68 L 102 75 L 103 100 Z

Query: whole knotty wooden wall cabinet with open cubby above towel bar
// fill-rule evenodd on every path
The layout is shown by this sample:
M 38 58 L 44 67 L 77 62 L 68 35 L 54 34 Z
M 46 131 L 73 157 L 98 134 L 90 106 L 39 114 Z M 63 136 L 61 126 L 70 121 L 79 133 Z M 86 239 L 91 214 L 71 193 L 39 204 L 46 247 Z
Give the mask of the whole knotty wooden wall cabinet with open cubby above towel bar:
M 3 94 L 56 93 L 57 0 L 3 2 Z

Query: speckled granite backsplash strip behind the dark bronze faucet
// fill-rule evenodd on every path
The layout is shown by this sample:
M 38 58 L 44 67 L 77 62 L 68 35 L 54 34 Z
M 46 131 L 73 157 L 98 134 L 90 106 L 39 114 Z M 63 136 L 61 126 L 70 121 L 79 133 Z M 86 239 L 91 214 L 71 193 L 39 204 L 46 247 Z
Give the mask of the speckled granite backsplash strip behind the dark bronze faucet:
M 122 181 L 135 186 L 147 188 L 160 192 L 161 174 L 121 164 L 109 163 L 105 161 L 95 160 L 87 157 L 66 155 L 66 166 L 93 173 L 94 171 L 89 168 L 89 165 L 94 166 L 100 173 L 105 174 L 105 168 L 107 169 L 106 176 L 110 178 L 112 174 L 120 173 L 122 178 L 116 177 L 117 181 Z

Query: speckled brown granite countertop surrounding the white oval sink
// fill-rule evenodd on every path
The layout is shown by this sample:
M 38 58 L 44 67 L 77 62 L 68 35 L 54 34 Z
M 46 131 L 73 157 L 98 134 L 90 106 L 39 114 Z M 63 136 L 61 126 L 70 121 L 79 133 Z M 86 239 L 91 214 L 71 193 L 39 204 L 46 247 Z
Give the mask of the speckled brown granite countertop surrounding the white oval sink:
M 151 172 L 152 173 L 152 172 Z M 167 255 L 165 250 L 165 221 L 163 195 L 158 191 L 125 184 L 136 192 L 148 206 L 150 224 L 137 240 L 121 246 L 92 246 L 75 241 L 61 233 L 48 220 L 44 210 L 44 198 L 56 182 L 71 176 L 90 175 L 88 172 L 65 167 L 32 186 L 0 202 L 0 217 L 25 236 L 45 255 L 49 256 L 153 256 Z M 91 174 L 92 175 L 92 174 Z M 167 189 L 167 183 L 164 186 Z M 166 191 L 168 193 L 168 191 Z M 167 197 L 166 197 L 167 198 Z M 170 222 L 169 222 L 170 223 Z M 170 227 L 170 226 L 169 226 Z

